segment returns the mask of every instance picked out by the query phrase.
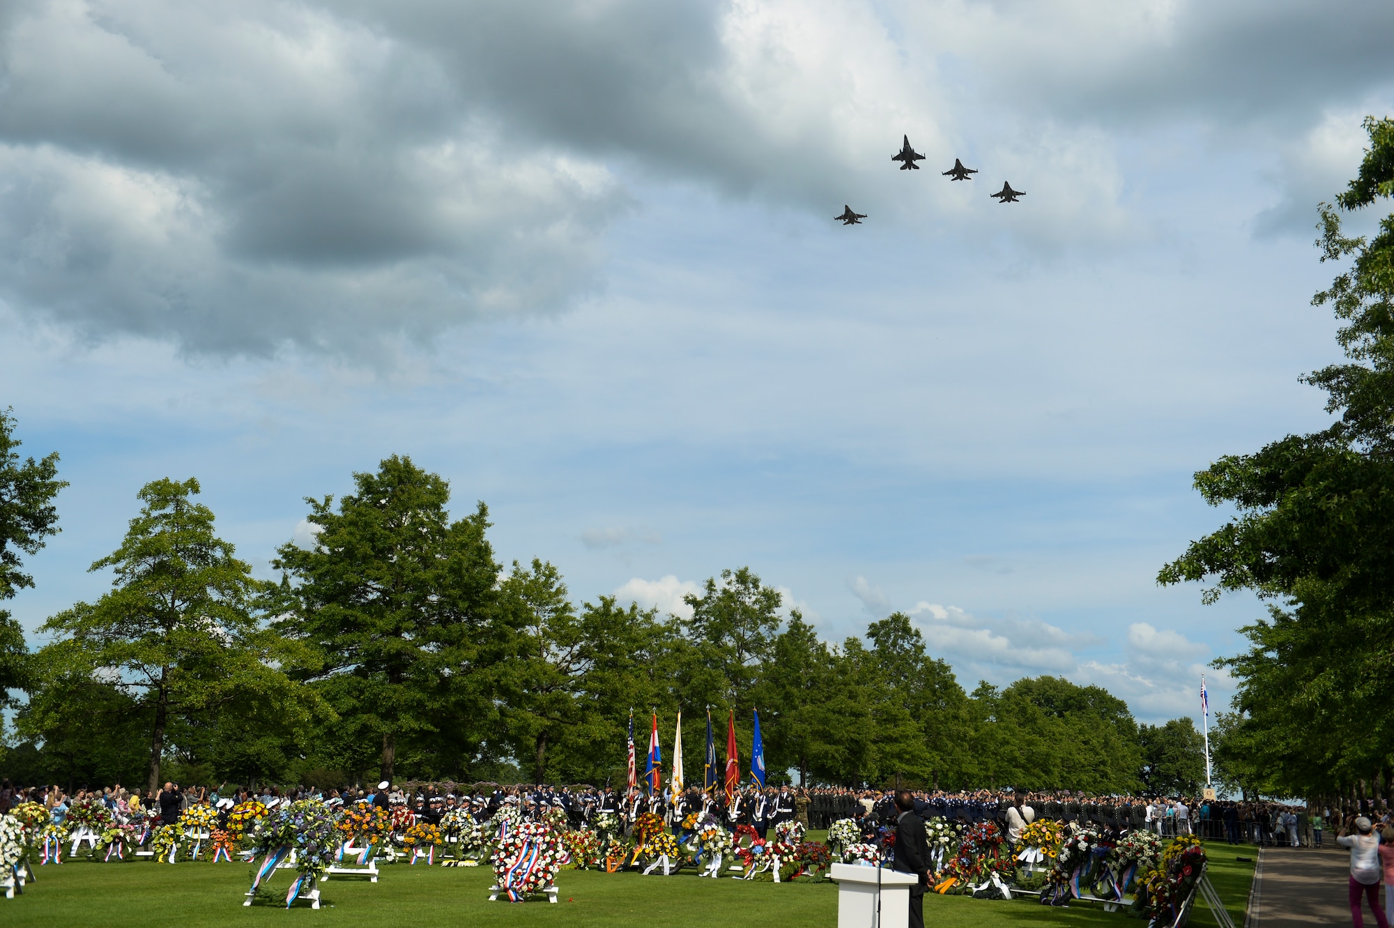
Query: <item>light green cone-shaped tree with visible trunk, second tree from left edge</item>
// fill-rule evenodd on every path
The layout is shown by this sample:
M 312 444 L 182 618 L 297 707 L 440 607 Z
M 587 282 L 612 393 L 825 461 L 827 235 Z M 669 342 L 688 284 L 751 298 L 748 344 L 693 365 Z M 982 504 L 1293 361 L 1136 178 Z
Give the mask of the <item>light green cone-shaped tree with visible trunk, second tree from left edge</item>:
M 112 592 L 43 626 L 59 635 L 40 651 L 56 676 L 109 683 L 151 712 L 151 790 L 171 719 L 283 684 L 252 616 L 262 584 L 213 532 L 212 510 L 191 499 L 198 492 L 192 478 L 141 488 L 144 506 L 121 546 L 91 567 L 113 570 Z

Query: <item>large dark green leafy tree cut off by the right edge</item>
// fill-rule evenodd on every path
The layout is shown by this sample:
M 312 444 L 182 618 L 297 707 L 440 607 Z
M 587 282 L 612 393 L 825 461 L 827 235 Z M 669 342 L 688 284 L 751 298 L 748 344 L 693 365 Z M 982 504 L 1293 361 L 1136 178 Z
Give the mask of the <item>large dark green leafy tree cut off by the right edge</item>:
M 1313 298 L 1342 320 L 1348 362 L 1305 378 L 1340 418 L 1197 472 L 1206 502 L 1238 514 L 1158 574 L 1214 580 L 1207 602 L 1236 589 L 1270 601 L 1242 630 L 1252 647 L 1218 665 L 1239 683 L 1242 729 L 1262 732 L 1248 743 L 1269 786 L 1288 794 L 1387 783 L 1394 755 L 1394 215 L 1372 240 L 1341 224 L 1341 212 L 1394 194 L 1394 120 L 1365 127 L 1359 176 L 1320 208 L 1322 261 L 1351 266 Z

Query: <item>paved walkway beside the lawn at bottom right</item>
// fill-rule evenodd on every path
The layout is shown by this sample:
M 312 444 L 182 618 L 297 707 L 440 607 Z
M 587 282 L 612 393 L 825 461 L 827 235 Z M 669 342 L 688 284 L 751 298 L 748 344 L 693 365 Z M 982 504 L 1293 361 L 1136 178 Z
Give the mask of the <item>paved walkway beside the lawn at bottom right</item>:
M 1330 847 L 1264 847 L 1249 907 L 1249 928 L 1349 925 L 1349 851 Z M 1383 897 L 1380 904 L 1384 904 Z M 1370 907 L 1365 924 L 1374 927 Z

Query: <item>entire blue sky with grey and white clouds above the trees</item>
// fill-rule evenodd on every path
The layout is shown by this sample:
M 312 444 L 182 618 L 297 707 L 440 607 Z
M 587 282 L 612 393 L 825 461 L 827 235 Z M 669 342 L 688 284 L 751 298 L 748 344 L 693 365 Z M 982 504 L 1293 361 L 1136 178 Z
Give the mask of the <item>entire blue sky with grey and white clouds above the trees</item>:
M 10 0 L 0 403 L 72 482 L 13 609 L 99 595 L 152 478 L 198 477 L 265 573 L 304 496 L 404 453 L 577 599 L 680 610 L 750 564 L 831 638 L 909 612 L 967 688 L 1195 715 L 1260 610 L 1154 578 L 1224 518 L 1193 471 L 1327 421 L 1316 205 L 1391 110 L 1391 32 L 1369 1 Z

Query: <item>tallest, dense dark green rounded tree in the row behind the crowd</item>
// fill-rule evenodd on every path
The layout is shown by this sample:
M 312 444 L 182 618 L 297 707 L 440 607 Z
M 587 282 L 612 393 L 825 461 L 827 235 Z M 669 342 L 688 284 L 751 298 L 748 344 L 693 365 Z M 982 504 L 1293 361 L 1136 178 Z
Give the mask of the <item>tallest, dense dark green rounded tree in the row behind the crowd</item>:
M 296 676 L 343 719 L 346 766 L 376 745 L 388 780 L 403 754 L 424 773 L 461 769 L 500 737 L 493 669 L 516 647 L 488 509 L 452 523 L 449 484 L 408 457 L 354 484 L 337 511 L 332 496 L 305 500 L 318 535 L 272 562 L 286 574 L 275 627 L 304 649 Z

